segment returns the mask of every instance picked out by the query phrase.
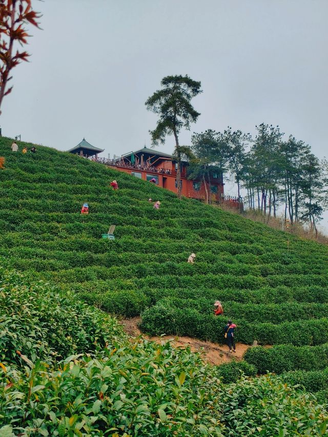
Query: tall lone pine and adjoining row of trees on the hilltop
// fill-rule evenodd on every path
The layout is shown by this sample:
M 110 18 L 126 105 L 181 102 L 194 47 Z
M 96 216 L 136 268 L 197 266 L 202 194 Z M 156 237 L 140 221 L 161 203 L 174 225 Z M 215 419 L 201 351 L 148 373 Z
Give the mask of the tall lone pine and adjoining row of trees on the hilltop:
M 214 173 L 229 173 L 241 189 L 247 192 L 249 209 L 276 217 L 283 208 L 285 219 L 291 223 L 309 223 L 317 234 L 317 221 L 328 206 L 328 161 L 320 161 L 309 144 L 293 135 L 284 139 L 279 126 L 261 123 L 256 126 L 255 138 L 250 133 L 224 132 L 208 129 L 194 133 L 191 144 L 181 146 L 181 128 L 190 130 L 190 123 L 200 115 L 191 99 L 200 94 L 201 84 L 189 76 L 167 76 L 162 88 L 146 101 L 149 110 L 158 114 L 156 128 L 150 131 L 154 145 L 165 142 L 167 135 L 175 138 L 174 156 L 177 161 L 178 197 L 181 198 L 181 160 L 189 161 L 189 178 L 202 181 L 209 196 L 210 180 Z

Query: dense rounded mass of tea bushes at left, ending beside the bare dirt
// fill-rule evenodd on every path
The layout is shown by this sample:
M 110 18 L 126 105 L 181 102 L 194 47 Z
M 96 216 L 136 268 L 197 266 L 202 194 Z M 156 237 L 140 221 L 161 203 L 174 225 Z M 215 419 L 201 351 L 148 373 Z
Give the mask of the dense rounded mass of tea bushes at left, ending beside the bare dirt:
M 0 268 L 0 357 L 2 362 L 24 364 L 61 360 L 72 353 L 95 353 L 124 338 L 114 319 L 60 293 L 50 284 L 31 282 Z

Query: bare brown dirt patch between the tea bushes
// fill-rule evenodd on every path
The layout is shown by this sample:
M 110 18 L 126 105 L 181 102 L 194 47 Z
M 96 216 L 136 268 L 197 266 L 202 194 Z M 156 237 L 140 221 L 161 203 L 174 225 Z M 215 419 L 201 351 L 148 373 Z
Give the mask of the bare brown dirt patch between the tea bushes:
M 201 352 L 204 360 L 210 364 L 223 364 L 229 363 L 232 359 L 241 360 L 243 353 L 251 347 L 248 344 L 236 343 L 236 353 L 229 352 L 228 346 L 220 346 L 217 343 L 211 341 L 202 341 L 191 337 L 174 337 L 174 336 L 162 336 L 162 337 L 149 337 L 143 334 L 138 328 L 140 317 L 134 317 L 132 319 L 122 319 L 120 323 L 124 326 L 125 331 L 132 337 L 142 336 L 146 339 L 156 341 L 171 340 L 175 347 L 188 347 L 190 346 L 193 352 Z

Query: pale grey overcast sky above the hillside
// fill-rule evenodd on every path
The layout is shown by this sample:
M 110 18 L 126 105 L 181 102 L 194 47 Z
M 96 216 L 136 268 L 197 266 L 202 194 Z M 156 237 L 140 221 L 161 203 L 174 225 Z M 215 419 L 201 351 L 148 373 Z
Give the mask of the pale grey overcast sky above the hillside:
M 5 136 L 68 150 L 84 137 L 111 157 L 145 144 L 146 99 L 162 77 L 200 80 L 201 113 L 181 144 L 206 129 L 255 134 L 279 125 L 328 156 L 327 0 L 32 0 L 29 63 L 13 70 Z M 168 137 L 158 150 L 172 152 Z M 229 192 L 227 192 L 229 191 Z M 227 194 L 236 188 L 227 181 Z M 322 225 L 325 227 L 328 213 Z

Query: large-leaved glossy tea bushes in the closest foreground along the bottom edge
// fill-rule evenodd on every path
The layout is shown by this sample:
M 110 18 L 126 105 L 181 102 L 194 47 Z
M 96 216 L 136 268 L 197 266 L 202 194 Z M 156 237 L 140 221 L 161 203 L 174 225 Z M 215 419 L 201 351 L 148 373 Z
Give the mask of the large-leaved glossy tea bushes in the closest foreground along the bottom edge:
M 234 384 L 198 354 L 136 340 L 56 370 L 0 366 L 0 435 L 323 435 L 327 412 L 270 375 Z M 125 434 L 126 433 L 126 434 Z

